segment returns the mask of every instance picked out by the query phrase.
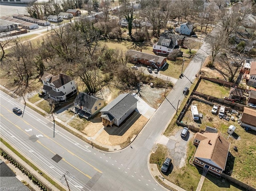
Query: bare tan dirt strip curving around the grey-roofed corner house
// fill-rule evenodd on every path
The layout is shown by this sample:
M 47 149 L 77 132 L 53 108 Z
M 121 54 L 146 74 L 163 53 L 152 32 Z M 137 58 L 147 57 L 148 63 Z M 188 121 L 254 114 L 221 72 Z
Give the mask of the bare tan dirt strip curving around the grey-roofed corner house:
M 136 122 L 134 122 L 134 124 L 132 124 L 132 126 L 122 136 L 110 135 L 108 134 L 106 129 L 104 129 L 96 138 L 96 141 L 110 146 L 120 145 L 123 148 L 127 146 L 127 144 L 129 143 L 130 139 L 132 139 L 133 136 L 137 135 L 140 132 L 140 130 L 142 130 L 147 121 L 148 119 L 141 115 L 140 118 L 138 118 L 138 120 L 136 120 Z M 113 126 L 112 128 L 118 127 Z

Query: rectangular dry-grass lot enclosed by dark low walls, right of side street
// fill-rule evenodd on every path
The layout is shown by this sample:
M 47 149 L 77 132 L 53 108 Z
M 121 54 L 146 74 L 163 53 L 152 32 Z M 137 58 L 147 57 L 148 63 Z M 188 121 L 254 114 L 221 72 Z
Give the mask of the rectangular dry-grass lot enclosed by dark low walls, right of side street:
M 229 90 L 230 89 L 228 87 L 224 87 L 204 79 L 201 80 L 200 84 L 196 89 L 197 92 L 217 98 L 223 98 L 224 96 L 228 96 Z

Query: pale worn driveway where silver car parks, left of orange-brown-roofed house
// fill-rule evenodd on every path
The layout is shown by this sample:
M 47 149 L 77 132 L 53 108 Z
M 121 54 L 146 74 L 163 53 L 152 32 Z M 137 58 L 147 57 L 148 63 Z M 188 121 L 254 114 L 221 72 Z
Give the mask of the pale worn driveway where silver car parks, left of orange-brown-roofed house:
M 162 135 L 158 142 L 168 148 L 174 168 L 181 168 L 185 165 L 188 142 L 194 136 L 193 132 L 188 131 L 186 137 L 181 137 L 180 133 L 182 132 L 182 129 L 183 128 L 180 128 L 174 136 L 166 137 Z

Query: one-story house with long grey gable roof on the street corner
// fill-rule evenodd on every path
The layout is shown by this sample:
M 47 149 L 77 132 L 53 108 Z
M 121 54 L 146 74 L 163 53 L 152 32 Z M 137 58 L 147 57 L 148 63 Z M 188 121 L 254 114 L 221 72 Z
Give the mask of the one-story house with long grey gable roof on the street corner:
M 136 108 L 137 99 L 129 93 L 120 94 L 100 110 L 104 126 L 119 126 Z

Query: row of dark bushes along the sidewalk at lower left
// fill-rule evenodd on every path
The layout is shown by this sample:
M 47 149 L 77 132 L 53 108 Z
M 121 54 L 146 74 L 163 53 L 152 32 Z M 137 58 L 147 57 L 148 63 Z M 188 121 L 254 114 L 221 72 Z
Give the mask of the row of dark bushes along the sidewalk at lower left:
M 10 163 L 12 165 L 14 165 L 15 167 L 17 167 L 18 169 L 20 169 L 20 171 L 22 171 L 22 173 L 24 173 L 25 175 L 28 176 L 29 179 L 31 179 L 36 185 L 38 185 L 38 187 L 43 190 L 43 191 L 51 191 L 52 189 L 48 188 L 46 185 L 44 185 L 43 183 L 41 183 L 38 179 L 38 177 L 36 177 L 36 175 L 30 173 L 28 171 L 28 169 L 26 169 L 24 166 L 22 166 L 21 164 L 19 164 L 17 161 L 15 161 L 11 156 L 9 156 L 8 153 L 6 153 L 4 150 L 0 149 L 0 153 L 1 156 L 3 156 L 5 159 L 7 159 L 8 161 L 10 161 Z

